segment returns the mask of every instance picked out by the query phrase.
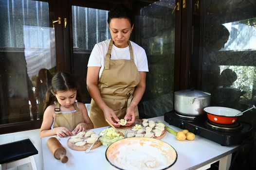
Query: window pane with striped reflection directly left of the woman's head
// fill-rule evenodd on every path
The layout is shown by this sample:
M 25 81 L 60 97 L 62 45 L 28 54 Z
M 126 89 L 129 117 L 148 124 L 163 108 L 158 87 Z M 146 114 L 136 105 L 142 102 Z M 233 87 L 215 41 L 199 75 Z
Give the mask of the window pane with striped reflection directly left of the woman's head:
M 72 6 L 74 50 L 92 50 L 98 42 L 111 38 L 108 11 Z

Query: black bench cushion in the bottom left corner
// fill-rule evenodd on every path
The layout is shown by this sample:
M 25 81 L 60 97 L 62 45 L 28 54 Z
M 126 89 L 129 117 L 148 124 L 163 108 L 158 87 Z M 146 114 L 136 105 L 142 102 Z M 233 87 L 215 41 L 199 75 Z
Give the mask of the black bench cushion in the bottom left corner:
M 23 159 L 38 154 L 30 139 L 0 145 L 0 164 Z

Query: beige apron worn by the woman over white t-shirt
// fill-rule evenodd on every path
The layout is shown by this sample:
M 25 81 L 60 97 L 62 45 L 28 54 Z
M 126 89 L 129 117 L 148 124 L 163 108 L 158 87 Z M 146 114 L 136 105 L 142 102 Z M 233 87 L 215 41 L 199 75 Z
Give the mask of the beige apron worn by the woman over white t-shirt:
M 98 81 L 103 101 L 115 112 L 119 119 L 124 119 L 126 109 L 132 100 L 135 86 L 140 83 L 140 73 L 134 63 L 133 51 L 128 41 L 130 60 L 110 60 L 113 40 L 110 40 L 105 67 Z M 135 119 L 139 119 L 138 107 L 135 108 Z M 91 99 L 90 118 L 94 128 L 108 126 L 103 111 Z

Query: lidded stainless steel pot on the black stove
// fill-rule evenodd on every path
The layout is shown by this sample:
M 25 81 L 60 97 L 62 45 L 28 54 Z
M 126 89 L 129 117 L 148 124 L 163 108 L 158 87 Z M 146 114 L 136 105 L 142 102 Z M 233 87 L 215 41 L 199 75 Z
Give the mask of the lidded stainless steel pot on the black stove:
M 181 90 L 174 92 L 174 109 L 185 116 L 201 116 L 204 107 L 210 105 L 211 94 L 201 90 Z

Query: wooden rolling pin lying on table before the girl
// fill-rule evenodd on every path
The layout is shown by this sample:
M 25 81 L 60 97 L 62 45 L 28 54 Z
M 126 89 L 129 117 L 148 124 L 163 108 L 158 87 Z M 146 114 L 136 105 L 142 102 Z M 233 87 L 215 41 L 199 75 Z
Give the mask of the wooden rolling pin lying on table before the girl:
M 60 159 L 62 163 L 66 163 L 69 160 L 66 156 L 66 149 L 59 143 L 56 137 L 49 138 L 46 144 L 56 159 Z

